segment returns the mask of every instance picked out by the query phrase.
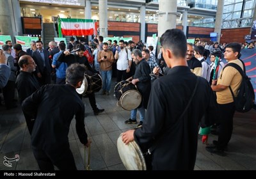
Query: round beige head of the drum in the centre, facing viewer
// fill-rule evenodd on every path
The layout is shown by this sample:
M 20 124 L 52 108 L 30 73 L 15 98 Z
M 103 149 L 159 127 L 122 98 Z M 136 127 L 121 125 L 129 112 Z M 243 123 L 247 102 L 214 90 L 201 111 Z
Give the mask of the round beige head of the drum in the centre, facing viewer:
M 131 111 L 141 104 L 141 94 L 139 91 L 131 89 L 126 91 L 120 98 L 120 105 L 123 109 Z

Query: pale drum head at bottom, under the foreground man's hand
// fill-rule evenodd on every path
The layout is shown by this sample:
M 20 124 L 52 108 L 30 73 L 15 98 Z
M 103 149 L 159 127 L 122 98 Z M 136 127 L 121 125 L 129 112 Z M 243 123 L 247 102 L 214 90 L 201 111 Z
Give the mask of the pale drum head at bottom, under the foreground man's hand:
M 127 170 L 146 170 L 146 163 L 140 146 L 135 141 L 125 145 L 122 134 L 117 139 L 117 149 L 125 168 Z

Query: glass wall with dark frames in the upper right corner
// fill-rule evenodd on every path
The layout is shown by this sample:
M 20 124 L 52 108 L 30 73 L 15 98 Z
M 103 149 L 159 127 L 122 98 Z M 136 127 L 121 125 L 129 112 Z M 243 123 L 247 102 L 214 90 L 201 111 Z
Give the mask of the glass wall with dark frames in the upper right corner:
M 256 0 L 226 0 L 222 28 L 250 27 Z

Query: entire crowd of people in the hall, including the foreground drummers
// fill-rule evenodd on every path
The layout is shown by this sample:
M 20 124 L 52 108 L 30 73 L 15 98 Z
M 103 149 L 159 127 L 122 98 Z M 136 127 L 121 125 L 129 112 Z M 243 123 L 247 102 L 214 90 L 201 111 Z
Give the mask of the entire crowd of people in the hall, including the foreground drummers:
M 68 129 L 74 116 L 79 140 L 90 146 L 84 128 L 83 95 L 76 92 L 83 84 L 84 74 L 101 76 L 101 95 L 111 93 L 113 77 L 116 83 L 131 81 L 137 86 L 141 104 L 124 123 L 138 123 L 137 111 L 140 122 L 136 130 L 124 132 L 122 140 L 125 144 L 136 141 L 142 150 L 157 144 L 149 169 L 194 169 L 198 128 L 213 124 L 218 128 L 218 141 L 206 146 L 206 150 L 225 155 L 235 112 L 228 86 L 236 95 L 242 77 L 232 66 L 222 70 L 221 58 L 243 69 L 239 60 L 242 45 L 228 43 L 220 49 L 214 43 L 205 55 L 208 48 L 187 43 L 179 29 L 167 30 L 160 42 L 159 58 L 152 46 L 124 40 L 104 42 L 103 36 L 91 42 L 72 37 L 67 47 L 64 42 L 58 46 L 49 42 L 49 49 L 44 49 L 40 40 L 32 41 L 26 52 L 18 43 L 13 48 L 10 42 L 3 45 L 0 84 L 4 103 L 7 109 L 17 107 L 17 88 L 40 169 L 52 170 L 54 165 L 59 169 L 76 169 L 68 144 Z M 246 47 L 253 48 L 251 43 Z M 92 60 L 86 58 L 87 53 Z M 209 56 L 211 63 L 207 61 Z M 95 115 L 104 112 L 97 107 L 94 92 L 86 96 Z

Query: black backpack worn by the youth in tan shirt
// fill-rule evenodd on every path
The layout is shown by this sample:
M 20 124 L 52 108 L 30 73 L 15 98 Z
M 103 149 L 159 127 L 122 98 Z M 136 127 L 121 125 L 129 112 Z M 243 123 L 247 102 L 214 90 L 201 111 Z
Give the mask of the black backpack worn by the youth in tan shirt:
M 241 61 L 241 62 L 243 63 L 243 61 Z M 246 112 L 250 111 L 250 109 L 252 109 L 252 107 L 253 107 L 254 100 L 255 100 L 255 94 L 254 94 L 254 89 L 253 89 L 252 83 L 250 81 L 250 78 L 246 75 L 244 63 L 243 63 L 244 71 L 236 63 L 228 63 L 223 68 L 223 70 L 227 66 L 232 66 L 233 68 L 236 68 L 236 70 L 242 76 L 242 81 L 241 81 L 241 85 L 238 89 L 237 97 L 235 97 L 231 87 L 228 86 L 228 88 L 230 89 L 230 91 L 232 93 L 232 97 L 233 97 L 235 105 L 236 105 L 236 111 L 238 111 L 240 113 L 246 113 Z

